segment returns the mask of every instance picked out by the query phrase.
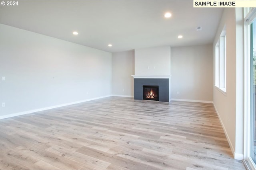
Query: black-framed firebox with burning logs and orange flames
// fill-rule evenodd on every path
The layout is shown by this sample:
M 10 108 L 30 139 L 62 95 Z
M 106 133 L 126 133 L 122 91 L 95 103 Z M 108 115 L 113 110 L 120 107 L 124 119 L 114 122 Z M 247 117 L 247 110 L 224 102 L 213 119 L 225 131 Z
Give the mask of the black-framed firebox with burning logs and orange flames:
M 158 101 L 158 86 L 143 86 L 143 100 Z

